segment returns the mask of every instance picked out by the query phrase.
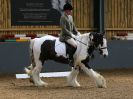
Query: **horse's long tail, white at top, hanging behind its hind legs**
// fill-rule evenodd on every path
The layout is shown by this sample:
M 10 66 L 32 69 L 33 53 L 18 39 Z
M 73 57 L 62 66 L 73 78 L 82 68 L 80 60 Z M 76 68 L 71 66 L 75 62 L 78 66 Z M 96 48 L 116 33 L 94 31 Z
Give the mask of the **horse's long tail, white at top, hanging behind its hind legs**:
M 30 45 L 29 45 L 29 53 L 30 53 L 30 58 L 31 58 L 31 65 L 28 67 L 25 67 L 24 70 L 28 75 L 31 75 L 33 68 L 35 67 L 35 62 L 34 62 L 34 55 L 33 55 L 33 46 L 34 46 L 35 39 L 30 40 Z

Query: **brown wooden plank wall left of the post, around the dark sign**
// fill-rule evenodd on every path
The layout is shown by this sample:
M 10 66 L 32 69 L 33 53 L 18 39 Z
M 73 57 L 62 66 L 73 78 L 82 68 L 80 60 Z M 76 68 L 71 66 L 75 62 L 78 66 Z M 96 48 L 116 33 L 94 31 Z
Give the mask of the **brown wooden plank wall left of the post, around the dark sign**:
M 73 17 L 77 28 L 82 32 L 92 31 L 92 15 L 90 14 L 90 1 L 72 0 L 74 6 Z M 10 0 L 0 0 L 0 35 L 7 33 L 59 33 L 59 26 L 11 26 L 11 5 Z M 33 29 L 33 31 L 32 31 Z M 24 31 L 25 30 L 25 31 Z M 27 30 L 27 31 L 26 31 Z

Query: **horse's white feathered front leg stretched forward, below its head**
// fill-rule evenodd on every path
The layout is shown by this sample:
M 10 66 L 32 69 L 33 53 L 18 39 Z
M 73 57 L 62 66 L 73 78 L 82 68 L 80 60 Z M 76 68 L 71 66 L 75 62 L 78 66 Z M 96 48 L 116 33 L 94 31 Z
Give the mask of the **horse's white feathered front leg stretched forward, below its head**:
M 85 66 L 83 63 L 81 65 L 81 69 L 95 81 L 98 88 L 106 88 L 105 78 L 93 69 L 88 67 L 89 66 Z

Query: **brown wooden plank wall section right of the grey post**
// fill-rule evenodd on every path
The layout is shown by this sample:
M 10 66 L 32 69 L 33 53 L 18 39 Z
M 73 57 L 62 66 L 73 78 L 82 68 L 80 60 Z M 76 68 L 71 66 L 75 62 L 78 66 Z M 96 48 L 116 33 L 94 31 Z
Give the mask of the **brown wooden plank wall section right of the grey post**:
M 105 0 L 105 28 L 109 37 L 133 31 L 133 0 Z

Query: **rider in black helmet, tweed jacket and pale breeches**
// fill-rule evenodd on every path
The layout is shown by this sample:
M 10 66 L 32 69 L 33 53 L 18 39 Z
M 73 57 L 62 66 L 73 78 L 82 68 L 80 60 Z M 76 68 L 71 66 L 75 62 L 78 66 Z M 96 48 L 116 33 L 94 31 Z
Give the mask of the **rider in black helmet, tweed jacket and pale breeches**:
M 63 7 L 63 14 L 60 18 L 61 34 L 60 41 L 66 42 L 73 47 L 73 51 L 69 53 L 69 59 L 73 60 L 73 54 L 77 49 L 77 43 L 75 41 L 76 35 L 80 35 L 77 31 L 72 18 L 73 7 L 70 3 L 66 3 Z

